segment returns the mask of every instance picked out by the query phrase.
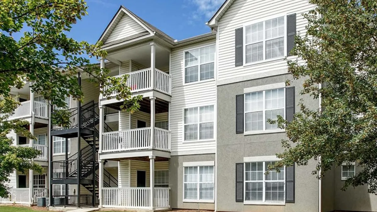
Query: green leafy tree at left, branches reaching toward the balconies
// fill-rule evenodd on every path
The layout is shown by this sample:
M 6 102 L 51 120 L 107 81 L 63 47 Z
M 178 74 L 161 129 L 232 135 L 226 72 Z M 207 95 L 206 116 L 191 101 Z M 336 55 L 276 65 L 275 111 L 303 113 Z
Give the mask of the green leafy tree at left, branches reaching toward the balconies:
M 35 139 L 25 129 L 25 121 L 8 120 L 18 102 L 9 92 L 11 88 L 22 88 L 24 80 L 32 82 L 31 89 L 49 101 L 64 107 L 67 96 L 83 100 L 77 73 L 88 75 L 98 87 L 112 85 L 102 92 L 104 97 L 116 93 L 123 100 L 123 110 L 138 110 L 140 96 L 132 97 L 126 86 L 127 75 L 107 77 L 107 69 L 90 64 L 89 57 L 106 57 L 101 43 L 91 45 L 67 37 L 68 32 L 81 17 L 87 15 L 83 0 L 2 0 L 0 1 L 0 197 L 5 197 L 9 174 L 17 169 L 41 171 L 31 162 L 39 151 L 28 147 L 12 146 L 12 139 L 6 135 L 14 131 Z M 13 36 L 19 36 L 15 39 Z M 54 113 L 55 114 L 55 113 Z M 54 123 L 69 124 L 66 110 L 58 111 L 52 117 Z

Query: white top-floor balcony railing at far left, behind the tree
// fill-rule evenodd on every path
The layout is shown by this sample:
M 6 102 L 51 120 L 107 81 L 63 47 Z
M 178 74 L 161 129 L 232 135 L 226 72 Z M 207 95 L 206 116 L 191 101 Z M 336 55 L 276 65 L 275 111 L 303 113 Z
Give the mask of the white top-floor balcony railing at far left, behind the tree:
M 31 101 L 23 101 L 20 105 L 15 109 L 14 114 L 9 116 L 9 119 L 15 118 L 25 118 L 30 117 L 30 102 Z M 34 101 L 34 115 L 38 118 L 48 118 L 48 105 L 44 102 Z

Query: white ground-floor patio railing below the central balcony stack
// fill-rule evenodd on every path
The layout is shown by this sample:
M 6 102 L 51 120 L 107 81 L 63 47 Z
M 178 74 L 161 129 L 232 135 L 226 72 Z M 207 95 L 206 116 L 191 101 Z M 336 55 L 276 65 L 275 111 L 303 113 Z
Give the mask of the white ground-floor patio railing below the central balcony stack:
M 155 188 L 155 208 L 169 208 L 170 188 Z M 150 205 L 150 188 L 103 188 L 103 207 L 147 209 Z

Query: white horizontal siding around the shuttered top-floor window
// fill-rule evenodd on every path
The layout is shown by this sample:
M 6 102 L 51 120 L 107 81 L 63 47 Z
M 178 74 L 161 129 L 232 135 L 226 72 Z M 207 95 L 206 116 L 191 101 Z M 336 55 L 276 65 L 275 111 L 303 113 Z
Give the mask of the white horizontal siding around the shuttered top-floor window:
M 266 63 L 234 66 L 234 30 L 257 20 L 264 20 L 271 15 L 296 13 L 297 31 L 305 32 L 307 21 L 301 15 L 313 9 L 305 0 L 253 1 L 237 0 L 230 6 L 218 22 L 218 80 L 242 77 L 254 73 L 287 69 L 284 59 Z M 174 87 L 174 86 L 173 86 Z

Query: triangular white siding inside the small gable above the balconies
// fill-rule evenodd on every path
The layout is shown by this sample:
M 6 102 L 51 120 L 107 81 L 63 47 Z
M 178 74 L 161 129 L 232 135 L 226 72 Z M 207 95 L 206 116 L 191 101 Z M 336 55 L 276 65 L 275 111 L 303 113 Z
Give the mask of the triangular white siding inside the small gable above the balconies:
M 112 30 L 111 34 L 105 41 L 105 43 L 110 43 L 115 40 L 119 40 L 131 35 L 135 35 L 141 32 L 145 32 L 146 29 L 139 25 L 135 20 L 133 20 L 128 15 L 124 14 L 115 28 Z

